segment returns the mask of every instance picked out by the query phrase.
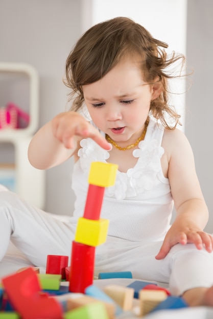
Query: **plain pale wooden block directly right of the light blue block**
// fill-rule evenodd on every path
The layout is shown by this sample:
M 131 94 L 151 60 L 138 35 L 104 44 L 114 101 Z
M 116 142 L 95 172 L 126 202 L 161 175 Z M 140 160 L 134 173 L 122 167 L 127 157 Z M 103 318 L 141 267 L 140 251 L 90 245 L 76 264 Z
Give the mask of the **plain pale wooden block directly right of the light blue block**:
M 111 297 L 123 310 L 131 310 L 133 305 L 134 289 L 120 285 L 107 285 L 104 292 Z

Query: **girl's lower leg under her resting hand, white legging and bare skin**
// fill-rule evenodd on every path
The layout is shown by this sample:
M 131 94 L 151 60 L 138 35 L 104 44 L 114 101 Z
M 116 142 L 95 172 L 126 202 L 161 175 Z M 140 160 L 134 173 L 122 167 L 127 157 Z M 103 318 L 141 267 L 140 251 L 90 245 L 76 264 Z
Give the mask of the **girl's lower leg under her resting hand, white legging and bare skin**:
M 173 265 L 170 289 L 190 306 L 213 306 L 213 253 L 199 251 L 193 244 L 171 250 Z

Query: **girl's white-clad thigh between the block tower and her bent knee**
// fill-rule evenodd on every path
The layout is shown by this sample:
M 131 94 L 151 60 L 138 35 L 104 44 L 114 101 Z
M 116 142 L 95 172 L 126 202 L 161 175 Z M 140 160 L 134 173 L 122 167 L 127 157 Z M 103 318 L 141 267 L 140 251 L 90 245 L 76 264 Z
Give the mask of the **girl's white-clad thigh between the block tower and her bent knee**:
M 112 236 L 96 248 L 95 277 L 101 272 L 130 271 L 134 279 L 157 281 L 168 285 L 170 265 L 156 260 L 162 242 L 130 242 Z

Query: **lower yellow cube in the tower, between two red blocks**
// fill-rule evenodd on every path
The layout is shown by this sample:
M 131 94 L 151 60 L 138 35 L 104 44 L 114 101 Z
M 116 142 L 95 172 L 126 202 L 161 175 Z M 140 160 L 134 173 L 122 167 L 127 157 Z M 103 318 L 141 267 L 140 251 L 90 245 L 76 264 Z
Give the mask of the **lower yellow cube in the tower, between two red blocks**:
M 108 219 L 90 220 L 83 217 L 78 219 L 75 241 L 88 246 L 99 246 L 106 242 Z

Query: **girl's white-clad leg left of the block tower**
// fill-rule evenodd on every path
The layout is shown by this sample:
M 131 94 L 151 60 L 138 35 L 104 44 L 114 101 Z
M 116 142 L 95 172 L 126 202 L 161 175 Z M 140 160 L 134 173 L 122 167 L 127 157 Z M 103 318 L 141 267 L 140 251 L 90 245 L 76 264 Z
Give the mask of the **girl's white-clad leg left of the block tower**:
M 70 256 L 75 226 L 29 205 L 16 194 L 0 192 L 0 260 L 9 241 L 37 266 L 45 267 L 47 255 Z

